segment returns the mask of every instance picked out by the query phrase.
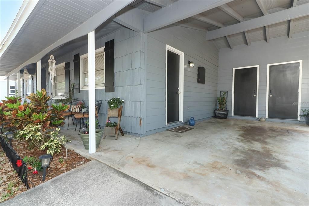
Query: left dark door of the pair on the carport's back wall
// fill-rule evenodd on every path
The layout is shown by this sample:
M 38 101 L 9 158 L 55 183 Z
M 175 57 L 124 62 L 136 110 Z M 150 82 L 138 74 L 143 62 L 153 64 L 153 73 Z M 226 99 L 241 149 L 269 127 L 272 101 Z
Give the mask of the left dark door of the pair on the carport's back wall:
M 257 67 L 235 69 L 234 115 L 256 116 Z

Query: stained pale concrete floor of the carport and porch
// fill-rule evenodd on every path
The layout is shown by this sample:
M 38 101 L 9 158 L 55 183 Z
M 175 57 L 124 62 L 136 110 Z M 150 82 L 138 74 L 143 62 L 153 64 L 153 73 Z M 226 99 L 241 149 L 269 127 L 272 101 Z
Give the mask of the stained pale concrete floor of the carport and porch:
M 186 205 L 308 205 L 309 127 L 238 119 L 197 122 L 184 133 L 102 139 L 89 155 Z M 74 127 L 75 128 L 75 127 Z

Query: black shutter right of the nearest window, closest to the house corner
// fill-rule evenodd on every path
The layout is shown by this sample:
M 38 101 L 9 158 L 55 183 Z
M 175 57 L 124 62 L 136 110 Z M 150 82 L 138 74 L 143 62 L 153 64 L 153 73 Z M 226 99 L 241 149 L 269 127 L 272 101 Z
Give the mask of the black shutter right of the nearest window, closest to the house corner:
M 114 39 L 105 42 L 105 92 L 114 92 Z

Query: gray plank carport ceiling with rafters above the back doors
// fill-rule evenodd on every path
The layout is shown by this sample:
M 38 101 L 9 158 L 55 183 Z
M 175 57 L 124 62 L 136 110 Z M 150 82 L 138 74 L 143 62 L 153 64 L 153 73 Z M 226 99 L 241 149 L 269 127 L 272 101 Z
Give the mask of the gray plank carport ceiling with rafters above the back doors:
M 248 27 L 248 30 L 242 32 L 237 32 L 237 29 L 228 29 L 239 26 L 240 22 L 253 22 L 253 19 L 259 20 L 258 18 L 263 16 L 263 18 L 269 18 L 271 21 L 274 15 L 284 16 L 291 8 L 300 5 L 303 5 L 302 7 L 309 11 L 309 1 L 304 0 L 232 1 L 174 24 L 206 31 L 207 40 L 213 40 L 218 49 L 226 47 L 233 49 L 236 45 L 247 44 L 249 46 L 251 42 L 260 40 L 269 42 L 271 38 L 285 35 L 291 38 L 295 33 L 308 31 L 309 15 L 292 20 L 283 20 L 267 26 L 256 26 L 257 28 L 254 29 Z M 233 33 L 222 36 L 222 34 L 230 31 L 233 31 Z

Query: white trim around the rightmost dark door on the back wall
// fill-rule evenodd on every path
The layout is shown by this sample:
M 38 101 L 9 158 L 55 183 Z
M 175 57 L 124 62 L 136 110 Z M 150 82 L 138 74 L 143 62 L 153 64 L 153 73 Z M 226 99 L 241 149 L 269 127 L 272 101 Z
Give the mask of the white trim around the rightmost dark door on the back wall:
M 300 106 L 301 106 L 301 93 L 302 93 L 302 68 L 303 68 L 303 60 L 298 61 L 292 61 L 292 62 L 280 62 L 280 63 L 274 63 L 274 64 L 267 64 L 267 80 L 266 80 L 266 114 L 265 118 L 268 118 L 268 98 L 269 98 L 269 66 L 272 65 L 279 65 L 279 64 L 290 64 L 290 63 L 296 63 L 299 62 L 299 81 L 298 81 L 298 112 L 297 112 L 297 120 L 300 120 Z

